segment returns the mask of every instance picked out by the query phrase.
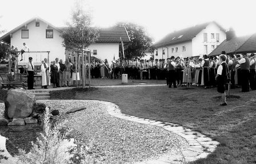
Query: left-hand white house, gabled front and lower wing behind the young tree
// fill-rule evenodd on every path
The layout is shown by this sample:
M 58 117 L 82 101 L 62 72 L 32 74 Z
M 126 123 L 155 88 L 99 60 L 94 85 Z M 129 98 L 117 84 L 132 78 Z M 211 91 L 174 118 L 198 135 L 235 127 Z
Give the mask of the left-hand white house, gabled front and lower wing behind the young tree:
M 23 61 L 19 62 L 19 65 L 27 63 L 30 56 L 33 57 L 35 65 L 40 65 L 41 61 L 48 55 L 47 52 L 42 51 L 50 51 L 50 62 L 55 58 L 65 60 L 69 55 L 73 59 L 74 52 L 65 51 L 65 47 L 62 45 L 63 38 L 60 34 L 63 29 L 63 27 L 53 26 L 42 18 L 32 18 L 1 36 L 0 40 L 18 47 L 18 50 L 21 50 L 23 43 L 27 44 L 30 52 L 23 54 Z M 99 28 L 99 38 L 86 49 L 91 50 L 91 56 L 101 60 L 107 59 L 110 63 L 114 56 L 115 59 L 119 56 L 120 38 L 123 42 L 130 42 L 125 27 Z M 18 60 L 20 59 L 21 56 L 19 55 Z

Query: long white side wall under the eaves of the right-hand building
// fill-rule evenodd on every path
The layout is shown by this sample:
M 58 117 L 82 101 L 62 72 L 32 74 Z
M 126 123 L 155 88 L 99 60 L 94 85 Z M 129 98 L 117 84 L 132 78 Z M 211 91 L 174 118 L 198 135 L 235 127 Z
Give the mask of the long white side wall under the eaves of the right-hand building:
M 182 51 L 182 46 L 186 47 L 186 51 Z M 168 48 L 168 50 L 166 47 Z M 175 51 L 176 47 L 178 47 L 178 52 Z M 171 52 L 171 48 L 174 48 L 173 53 Z M 158 50 L 158 56 L 155 55 L 157 50 Z M 192 42 L 191 40 L 188 40 L 186 42 L 172 44 L 170 46 L 157 47 L 157 50 L 155 50 L 154 52 L 155 59 L 167 59 L 167 58 L 171 58 L 171 56 L 174 56 L 175 58 L 178 56 L 185 58 L 188 56 L 192 56 Z M 162 50 L 165 50 L 165 55 L 162 54 Z

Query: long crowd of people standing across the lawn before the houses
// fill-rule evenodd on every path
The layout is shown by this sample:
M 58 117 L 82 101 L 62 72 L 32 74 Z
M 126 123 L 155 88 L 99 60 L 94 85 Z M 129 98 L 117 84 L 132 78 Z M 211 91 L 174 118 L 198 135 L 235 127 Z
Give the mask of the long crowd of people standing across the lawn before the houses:
M 226 56 L 223 51 L 222 55 Z M 255 77 L 255 56 L 251 54 L 228 55 L 225 63 L 228 65 L 228 79 L 231 89 L 241 87 L 242 92 L 249 92 L 250 89 L 256 89 Z M 58 58 L 51 62 L 49 66 L 47 59 L 42 61 L 41 72 L 45 73 L 45 77 L 50 76 L 50 83 L 53 87 L 69 87 L 80 82 L 81 79 L 81 64 L 75 67 L 74 62 L 66 59 L 65 63 Z M 30 63 L 27 65 L 31 65 Z M 27 68 L 26 65 L 26 68 Z M 179 57 L 165 59 L 143 60 L 139 58 L 124 59 L 107 62 L 107 59 L 102 62 L 92 62 L 90 71 L 91 78 L 122 78 L 122 74 L 126 73 L 129 79 L 156 79 L 166 80 L 166 84 L 171 88 L 179 86 L 191 85 L 203 86 L 204 88 L 213 88 L 218 86 L 217 70 L 221 65 L 221 59 L 218 56 L 203 55 L 202 58 L 193 59 Z M 80 67 L 79 67 L 80 66 Z M 49 72 L 50 75 L 46 75 Z M 87 65 L 87 77 L 89 70 Z M 42 86 L 47 88 L 46 80 L 42 78 Z M 227 83 L 225 83 L 227 84 Z M 49 85 L 49 84 L 48 84 Z M 32 87 L 33 88 L 33 87 Z

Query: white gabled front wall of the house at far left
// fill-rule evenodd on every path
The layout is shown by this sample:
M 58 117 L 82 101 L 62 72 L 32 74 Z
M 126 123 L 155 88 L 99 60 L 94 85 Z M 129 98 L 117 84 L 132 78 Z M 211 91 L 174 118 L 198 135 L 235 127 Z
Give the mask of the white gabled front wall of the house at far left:
M 38 20 L 40 22 L 39 27 L 35 27 L 35 20 L 27 24 L 27 30 L 29 30 L 29 38 L 21 38 L 21 28 L 18 31 L 14 32 L 11 38 L 11 46 L 18 47 L 18 50 L 21 50 L 23 43 L 25 42 L 29 47 L 30 51 L 50 51 L 49 61 L 55 60 L 55 58 L 65 59 L 65 48 L 62 46 L 63 39 L 59 36 L 60 32 L 53 29 L 53 38 L 46 38 L 46 29 L 47 24 Z M 29 56 L 33 58 L 35 65 L 40 64 L 44 58 L 47 58 L 47 53 L 26 53 L 23 54 L 23 61 L 19 64 L 25 64 L 29 60 Z M 18 58 L 21 59 L 21 56 Z M 25 59 L 25 60 L 24 60 Z

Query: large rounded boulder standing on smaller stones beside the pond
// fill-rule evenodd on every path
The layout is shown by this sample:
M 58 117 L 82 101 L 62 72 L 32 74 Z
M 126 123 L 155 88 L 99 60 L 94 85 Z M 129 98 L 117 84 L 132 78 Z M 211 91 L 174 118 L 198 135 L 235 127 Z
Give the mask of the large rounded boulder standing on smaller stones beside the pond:
M 11 89 L 5 97 L 5 116 L 8 118 L 26 118 L 33 111 L 35 95 L 25 89 Z

